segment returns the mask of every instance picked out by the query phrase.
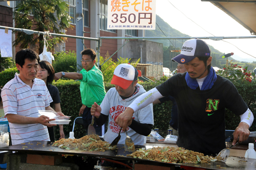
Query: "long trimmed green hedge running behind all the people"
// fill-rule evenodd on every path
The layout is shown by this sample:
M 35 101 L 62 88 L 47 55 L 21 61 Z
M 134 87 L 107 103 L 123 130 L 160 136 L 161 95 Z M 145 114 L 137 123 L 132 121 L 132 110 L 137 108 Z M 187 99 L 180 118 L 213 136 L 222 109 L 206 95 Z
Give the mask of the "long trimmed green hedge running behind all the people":
M 0 72 L 0 86 L 4 86 L 9 80 L 14 77 L 16 68 L 10 68 L 5 71 Z M 146 91 L 154 88 L 161 81 L 156 83 L 143 82 L 140 83 Z M 234 81 L 234 85 L 237 87 L 240 95 L 248 105 L 252 113 L 256 113 L 256 83 L 250 83 L 248 81 Z M 69 132 L 72 131 L 73 122 L 76 117 L 79 116 L 79 110 L 81 107 L 81 95 L 80 95 L 80 82 L 74 80 L 58 80 L 53 82 L 60 92 L 61 100 L 61 110 L 64 114 L 72 116 L 71 123 L 69 125 L 64 125 L 64 132 L 66 136 L 69 136 Z M 108 91 L 114 85 L 110 83 L 105 83 L 105 89 Z M 167 134 L 167 129 L 169 128 L 170 120 L 170 110 L 172 108 L 172 102 L 165 102 L 161 105 L 154 105 L 154 128 L 159 128 L 160 134 L 164 137 Z M 254 114 L 254 124 L 250 127 L 250 131 L 256 131 L 255 124 L 255 114 Z M 225 114 L 226 119 L 226 129 L 235 130 L 240 123 L 240 117 L 231 113 L 230 110 L 226 109 Z M 59 138 L 58 128 L 55 128 L 55 138 Z M 80 125 L 75 126 L 75 137 L 80 138 L 84 135 L 83 127 Z

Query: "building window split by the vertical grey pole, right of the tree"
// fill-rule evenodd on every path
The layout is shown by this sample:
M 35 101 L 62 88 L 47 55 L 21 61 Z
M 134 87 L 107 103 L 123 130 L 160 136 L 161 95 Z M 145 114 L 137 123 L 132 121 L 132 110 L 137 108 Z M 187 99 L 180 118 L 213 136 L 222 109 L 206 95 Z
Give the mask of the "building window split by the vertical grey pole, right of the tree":
M 76 0 L 65 0 L 69 3 L 69 15 L 71 16 L 71 23 L 76 24 Z M 89 2 L 88 0 L 82 0 L 83 11 L 83 24 L 84 27 L 89 27 Z

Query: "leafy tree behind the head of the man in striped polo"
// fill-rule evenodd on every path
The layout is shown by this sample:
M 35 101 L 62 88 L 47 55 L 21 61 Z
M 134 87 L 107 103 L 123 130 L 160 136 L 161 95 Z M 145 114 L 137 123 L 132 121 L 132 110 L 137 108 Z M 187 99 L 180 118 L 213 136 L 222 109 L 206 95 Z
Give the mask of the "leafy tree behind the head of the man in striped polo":
M 29 29 L 40 32 L 54 32 L 64 34 L 61 30 L 66 30 L 73 26 L 70 25 L 69 7 L 62 0 L 25 0 L 19 1 L 14 10 L 15 28 Z M 44 35 L 27 35 L 17 32 L 14 45 L 20 48 L 28 48 L 31 44 L 36 45 L 39 54 L 44 49 Z M 65 42 L 66 38 L 48 38 L 51 50 L 57 43 Z M 36 50 L 37 50 L 36 49 Z

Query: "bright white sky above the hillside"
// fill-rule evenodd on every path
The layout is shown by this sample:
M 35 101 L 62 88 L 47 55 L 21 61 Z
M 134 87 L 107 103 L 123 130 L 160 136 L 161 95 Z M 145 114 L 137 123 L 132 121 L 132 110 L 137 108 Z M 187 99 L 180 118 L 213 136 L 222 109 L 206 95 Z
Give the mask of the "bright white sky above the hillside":
M 174 6 L 196 22 L 197 25 Z M 156 14 L 167 22 L 170 27 L 191 37 L 212 37 L 211 34 L 217 37 L 253 36 L 249 30 L 210 2 L 201 2 L 201 0 L 157 0 Z M 241 52 L 237 47 L 227 42 L 207 39 L 204 41 L 222 53 L 234 53 L 232 56 L 234 59 L 247 62 L 256 61 L 256 36 L 251 39 L 224 40 L 236 45 L 240 50 L 251 56 Z

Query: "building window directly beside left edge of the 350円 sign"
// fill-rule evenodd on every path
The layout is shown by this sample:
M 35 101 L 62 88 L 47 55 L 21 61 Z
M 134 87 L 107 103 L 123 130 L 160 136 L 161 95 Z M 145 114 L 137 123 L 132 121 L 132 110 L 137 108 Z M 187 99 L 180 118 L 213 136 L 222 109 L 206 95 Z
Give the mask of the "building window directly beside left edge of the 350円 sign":
M 99 0 L 99 19 L 100 19 L 100 24 L 99 24 L 99 28 L 100 30 L 104 30 L 104 31 L 109 31 L 109 32 L 113 32 L 116 33 L 116 30 L 107 30 L 107 22 L 108 22 L 108 0 Z

